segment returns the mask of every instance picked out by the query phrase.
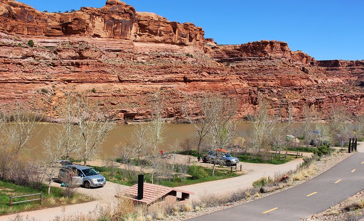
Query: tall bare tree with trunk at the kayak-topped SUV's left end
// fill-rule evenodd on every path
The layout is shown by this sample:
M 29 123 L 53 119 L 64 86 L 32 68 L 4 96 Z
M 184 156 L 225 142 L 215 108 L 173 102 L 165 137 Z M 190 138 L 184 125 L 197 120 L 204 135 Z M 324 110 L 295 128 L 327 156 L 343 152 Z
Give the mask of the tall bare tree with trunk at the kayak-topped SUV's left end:
M 214 152 L 212 176 L 218 162 L 220 151 L 231 145 L 235 138 L 238 103 L 228 97 L 207 95 L 199 104 L 201 115 L 206 123 L 209 150 Z

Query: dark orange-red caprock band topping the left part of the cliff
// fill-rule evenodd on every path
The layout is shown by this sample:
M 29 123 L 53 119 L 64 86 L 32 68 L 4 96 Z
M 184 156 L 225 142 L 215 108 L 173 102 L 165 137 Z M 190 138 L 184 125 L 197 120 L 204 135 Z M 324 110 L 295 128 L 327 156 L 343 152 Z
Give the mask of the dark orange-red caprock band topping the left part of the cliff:
M 14 1 L 0 0 L 0 28 L 14 34 L 47 37 L 90 36 L 138 42 L 203 45 L 202 28 L 192 23 L 168 21 L 119 0 L 102 8 L 82 7 L 68 13 L 40 12 Z

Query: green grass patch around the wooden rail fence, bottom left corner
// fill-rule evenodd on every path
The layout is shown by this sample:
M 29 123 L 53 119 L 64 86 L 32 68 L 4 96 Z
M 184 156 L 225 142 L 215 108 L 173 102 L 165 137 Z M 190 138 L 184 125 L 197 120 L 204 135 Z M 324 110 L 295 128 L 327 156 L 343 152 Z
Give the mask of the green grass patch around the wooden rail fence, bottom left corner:
M 75 194 L 72 197 L 63 197 L 62 189 L 58 187 L 52 187 L 50 194 L 47 194 L 48 187 L 43 186 L 41 188 L 43 192 L 43 204 L 40 205 L 39 201 L 33 201 L 28 203 L 15 204 L 12 207 L 9 205 L 9 196 L 21 196 L 28 194 L 40 193 L 39 190 L 35 190 L 30 187 L 19 186 L 10 182 L 4 182 L 0 180 L 0 215 L 20 213 L 30 210 L 39 210 L 50 207 L 58 207 L 62 205 L 71 205 L 78 203 L 89 202 L 92 199 L 90 197 Z M 24 200 L 38 199 L 39 196 L 32 196 L 26 198 L 15 198 L 13 202 L 19 202 Z

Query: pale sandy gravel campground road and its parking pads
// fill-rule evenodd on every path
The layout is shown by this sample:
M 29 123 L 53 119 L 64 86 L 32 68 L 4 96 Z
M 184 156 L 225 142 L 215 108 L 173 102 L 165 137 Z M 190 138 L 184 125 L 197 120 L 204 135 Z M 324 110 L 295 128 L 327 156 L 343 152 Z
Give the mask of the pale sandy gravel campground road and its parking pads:
M 358 147 L 358 150 L 364 152 L 364 145 Z M 188 156 L 184 155 L 178 155 L 178 157 L 176 156 L 176 159 L 178 159 L 179 163 L 186 162 L 188 158 Z M 174 158 L 171 157 L 167 160 L 174 161 Z M 191 157 L 190 161 L 192 164 L 211 166 L 211 164 L 197 162 L 197 159 L 193 157 Z M 242 169 L 244 173 L 246 173 L 245 175 L 224 180 L 182 186 L 179 189 L 194 192 L 194 195 L 191 196 L 192 200 L 198 200 L 199 196 L 202 196 L 206 193 L 226 194 L 236 191 L 237 189 L 245 189 L 251 187 L 252 182 L 258 180 L 263 176 L 273 177 L 276 173 L 285 173 L 286 171 L 294 170 L 301 162 L 302 158 L 281 165 L 241 163 Z M 88 164 L 102 166 L 105 164 L 105 162 L 103 162 L 102 160 L 97 160 L 90 161 Z M 123 167 L 123 165 L 119 164 L 118 167 Z M 57 183 L 54 183 L 53 185 L 60 186 Z M 56 207 L 38 211 L 23 212 L 17 215 L 34 218 L 35 220 L 40 221 L 51 221 L 57 217 L 62 216 L 72 216 L 74 214 L 80 213 L 87 214 L 95 211 L 99 207 L 105 207 L 114 204 L 116 202 L 114 196 L 117 195 L 120 191 L 125 190 L 126 188 L 128 187 L 110 182 L 108 182 L 105 187 L 97 189 L 78 188 L 77 191 L 79 191 L 80 193 L 87 194 L 97 200 L 89 203 L 76 204 L 67 207 Z M 17 215 L 0 216 L 0 221 L 8 221 L 9 219 L 14 219 Z

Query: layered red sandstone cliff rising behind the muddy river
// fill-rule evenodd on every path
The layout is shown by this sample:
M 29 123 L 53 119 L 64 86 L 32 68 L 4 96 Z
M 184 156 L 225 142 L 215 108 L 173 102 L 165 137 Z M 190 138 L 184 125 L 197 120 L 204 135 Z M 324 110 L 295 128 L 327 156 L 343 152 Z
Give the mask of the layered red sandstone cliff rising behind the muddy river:
M 304 104 L 323 117 L 332 105 L 361 114 L 363 84 L 364 61 L 315 61 L 281 41 L 217 45 L 192 23 L 118 0 L 64 14 L 0 0 L 0 104 L 25 101 L 54 118 L 68 92 L 99 100 L 120 119 L 149 118 L 157 91 L 172 120 L 183 119 L 186 96 L 204 93 L 236 98 L 240 117 L 257 107 L 258 94 L 273 109 L 293 104 L 298 116 Z

